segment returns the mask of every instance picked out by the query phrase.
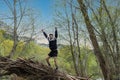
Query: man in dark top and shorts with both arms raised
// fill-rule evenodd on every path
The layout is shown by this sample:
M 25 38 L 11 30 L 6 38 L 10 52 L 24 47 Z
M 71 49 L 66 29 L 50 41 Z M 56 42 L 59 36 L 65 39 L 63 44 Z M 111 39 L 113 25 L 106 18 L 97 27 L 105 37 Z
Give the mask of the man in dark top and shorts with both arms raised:
M 46 58 L 47 64 L 49 66 L 50 62 L 49 59 L 53 58 L 54 59 L 54 63 L 55 63 L 55 67 L 56 70 L 58 69 L 58 65 L 57 65 L 57 37 L 58 37 L 58 33 L 57 33 L 57 27 L 55 27 L 55 36 L 53 34 L 49 34 L 49 36 L 44 32 L 44 30 L 42 30 L 44 36 L 47 38 L 47 40 L 49 41 L 49 48 L 50 48 L 50 53 L 48 54 L 48 57 Z

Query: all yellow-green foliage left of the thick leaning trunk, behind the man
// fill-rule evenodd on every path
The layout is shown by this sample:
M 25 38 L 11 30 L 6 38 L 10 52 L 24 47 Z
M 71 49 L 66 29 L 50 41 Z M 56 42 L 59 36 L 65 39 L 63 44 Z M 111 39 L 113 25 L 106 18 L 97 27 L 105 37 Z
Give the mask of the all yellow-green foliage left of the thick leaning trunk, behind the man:
M 0 55 L 7 56 L 9 55 L 13 47 L 13 41 L 11 39 L 4 38 L 3 33 L 4 31 L 0 31 L 0 40 L 2 40 L 2 42 L 0 43 Z M 48 56 L 49 52 L 49 48 L 35 44 L 32 41 L 28 44 L 19 41 L 16 48 L 16 54 L 14 55 L 13 59 L 16 59 L 18 57 L 33 58 L 36 61 L 41 61 L 46 64 L 45 58 Z M 99 67 L 93 51 L 87 47 L 81 48 L 81 59 L 84 60 L 83 64 L 86 65 L 85 69 L 87 75 L 95 74 L 96 76 L 94 77 L 94 79 L 98 78 L 100 76 L 98 75 Z M 53 59 L 51 59 L 50 62 L 54 67 Z M 72 55 L 69 46 L 62 46 L 59 49 L 58 65 L 62 71 L 75 75 Z

